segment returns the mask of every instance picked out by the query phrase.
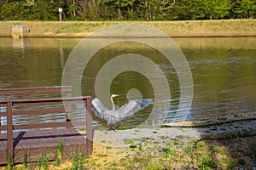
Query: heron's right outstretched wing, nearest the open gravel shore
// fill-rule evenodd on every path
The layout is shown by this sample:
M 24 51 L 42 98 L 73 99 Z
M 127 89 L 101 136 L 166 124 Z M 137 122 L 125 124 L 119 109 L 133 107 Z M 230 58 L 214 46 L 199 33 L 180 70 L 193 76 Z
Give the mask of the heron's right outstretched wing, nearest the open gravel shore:
M 123 105 L 117 110 L 119 119 L 125 120 L 133 116 L 138 111 L 143 110 L 148 107 L 148 105 L 153 104 L 153 99 L 135 99 L 129 101 L 127 104 Z

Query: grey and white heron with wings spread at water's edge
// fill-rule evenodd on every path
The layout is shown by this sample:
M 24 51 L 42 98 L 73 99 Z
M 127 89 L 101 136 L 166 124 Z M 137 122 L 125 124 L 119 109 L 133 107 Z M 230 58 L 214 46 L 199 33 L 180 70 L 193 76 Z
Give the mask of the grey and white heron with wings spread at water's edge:
M 113 105 L 112 110 L 108 110 L 102 104 L 100 99 L 93 99 L 92 100 L 92 111 L 93 113 L 101 118 L 106 120 L 108 126 L 114 126 L 117 122 L 125 120 L 131 116 L 133 116 L 138 111 L 143 110 L 144 108 L 148 107 L 148 105 L 153 104 L 153 99 L 134 99 L 130 100 L 128 103 L 120 107 L 119 109 L 115 110 L 115 105 L 113 103 L 113 98 L 119 96 L 118 94 L 111 94 L 110 100 Z M 77 105 L 79 108 L 84 108 L 84 104 Z

